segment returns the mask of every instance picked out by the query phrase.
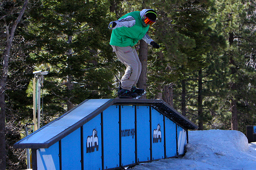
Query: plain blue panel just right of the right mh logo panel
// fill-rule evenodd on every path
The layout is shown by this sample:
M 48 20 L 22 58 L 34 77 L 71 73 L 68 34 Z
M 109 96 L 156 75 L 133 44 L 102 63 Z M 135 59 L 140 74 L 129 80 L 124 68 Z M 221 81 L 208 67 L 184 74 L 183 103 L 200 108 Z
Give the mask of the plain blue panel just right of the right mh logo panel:
M 166 157 L 173 157 L 177 154 L 176 124 L 165 118 Z

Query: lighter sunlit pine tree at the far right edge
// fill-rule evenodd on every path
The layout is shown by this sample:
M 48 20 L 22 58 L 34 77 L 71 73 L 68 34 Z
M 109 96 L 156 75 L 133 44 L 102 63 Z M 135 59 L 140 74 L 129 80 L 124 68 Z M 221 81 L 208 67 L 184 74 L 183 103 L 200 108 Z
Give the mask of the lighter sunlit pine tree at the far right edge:
M 245 132 L 245 125 L 254 122 L 252 113 L 254 107 L 255 72 L 249 68 L 248 62 L 254 54 L 255 29 L 253 23 L 255 18 L 252 15 L 255 7 L 253 1 L 233 1 L 226 3 L 219 1 L 219 12 L 222 18 L 221 25 L 225 36 L 229 41 L 229 48 L 225 55 L 229 59 L 229 80 L 226 83 L 224 103 L 222 106 L 230 114 L 232 130 Z M 249 59 L 249 60 L 248 60 Z M 250 121 L 249 121 L 250 120 Z

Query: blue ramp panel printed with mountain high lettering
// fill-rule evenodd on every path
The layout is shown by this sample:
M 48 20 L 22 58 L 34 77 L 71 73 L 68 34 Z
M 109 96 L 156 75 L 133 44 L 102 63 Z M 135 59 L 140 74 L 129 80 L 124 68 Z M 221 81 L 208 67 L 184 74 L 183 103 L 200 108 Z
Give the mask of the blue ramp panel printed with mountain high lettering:
M 121 108 L 122 165 L 135 163 L 135 106 Z

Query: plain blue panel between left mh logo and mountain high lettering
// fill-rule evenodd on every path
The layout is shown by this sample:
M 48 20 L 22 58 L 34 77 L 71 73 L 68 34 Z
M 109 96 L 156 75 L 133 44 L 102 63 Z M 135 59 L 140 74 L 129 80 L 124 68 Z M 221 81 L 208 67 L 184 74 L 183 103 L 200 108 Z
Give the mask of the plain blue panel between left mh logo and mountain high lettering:
M 119 166 L 119 108 L 110 106 L 103 112 L 104 169 Z

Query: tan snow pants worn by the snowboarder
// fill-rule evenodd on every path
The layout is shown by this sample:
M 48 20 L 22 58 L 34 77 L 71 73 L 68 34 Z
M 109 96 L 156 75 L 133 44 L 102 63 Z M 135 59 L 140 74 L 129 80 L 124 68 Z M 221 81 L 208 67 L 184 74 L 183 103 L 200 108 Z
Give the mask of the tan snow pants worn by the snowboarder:
M 132 86 L 137 84 L 141 73 L 141 62 L 136 49 L 131 46 L 113 45 L 112 48 L 121 63 L 126 66 L 124 76 L 121 79 L 121 88 L 131 90 Z

